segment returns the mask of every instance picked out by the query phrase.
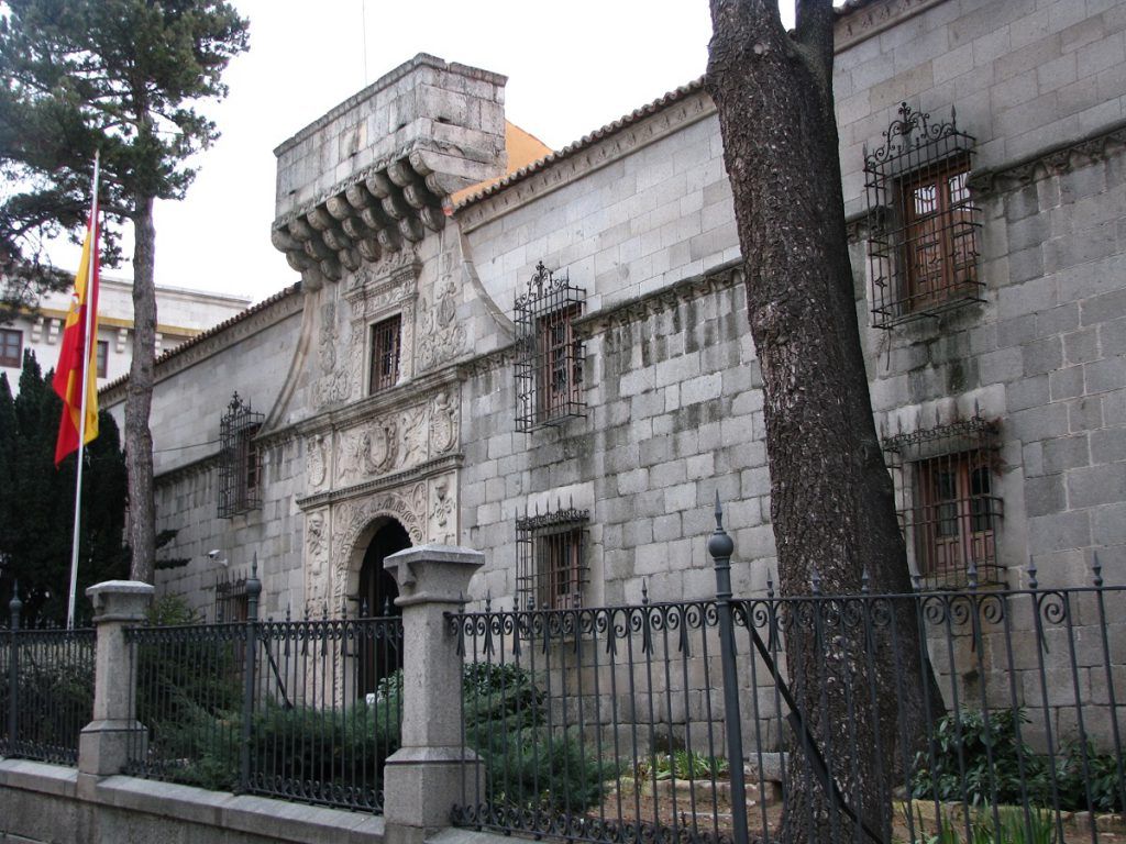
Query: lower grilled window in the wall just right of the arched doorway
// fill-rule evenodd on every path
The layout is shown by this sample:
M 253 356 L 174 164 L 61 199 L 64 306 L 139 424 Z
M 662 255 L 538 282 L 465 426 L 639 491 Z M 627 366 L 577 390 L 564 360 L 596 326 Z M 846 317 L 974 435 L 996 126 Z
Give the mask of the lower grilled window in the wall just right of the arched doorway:
M 589 511 L 574 508 L 516 520 L 516 591 L 520 609 L 582 607 Z

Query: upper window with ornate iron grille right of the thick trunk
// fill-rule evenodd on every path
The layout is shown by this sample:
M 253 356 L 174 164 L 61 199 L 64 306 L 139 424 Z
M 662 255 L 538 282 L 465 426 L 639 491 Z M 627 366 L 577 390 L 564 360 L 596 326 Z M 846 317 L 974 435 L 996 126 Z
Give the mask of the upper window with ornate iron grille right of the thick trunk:
M 875 152 L 864 151 L 868 267 L 876 327 L 982 300 L 981 208 L 969 190 L 974 138 L 902 104 Z

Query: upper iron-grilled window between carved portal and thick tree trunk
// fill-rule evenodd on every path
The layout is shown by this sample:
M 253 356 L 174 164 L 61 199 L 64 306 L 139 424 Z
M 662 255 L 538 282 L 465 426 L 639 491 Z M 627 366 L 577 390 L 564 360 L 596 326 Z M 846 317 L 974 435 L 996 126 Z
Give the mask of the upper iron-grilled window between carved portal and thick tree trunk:
M 582 394 L 586 345 L 575 334 L 587 291 L 572 287 L 570 276 L 552 273 L 543 262 L 517 297 L 515 321 L 516 428 L 530 431 L 586 416 Z

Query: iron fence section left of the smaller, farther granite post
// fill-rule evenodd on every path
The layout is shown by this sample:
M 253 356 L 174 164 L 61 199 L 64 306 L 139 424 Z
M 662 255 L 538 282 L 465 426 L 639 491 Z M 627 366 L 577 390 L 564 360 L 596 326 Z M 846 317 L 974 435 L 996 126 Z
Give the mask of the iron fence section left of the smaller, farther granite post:
M 92 628 L 20 629 L 20 602 L 0 629 L 0 755 L 78 763 L 79 735 L 93 717 Z

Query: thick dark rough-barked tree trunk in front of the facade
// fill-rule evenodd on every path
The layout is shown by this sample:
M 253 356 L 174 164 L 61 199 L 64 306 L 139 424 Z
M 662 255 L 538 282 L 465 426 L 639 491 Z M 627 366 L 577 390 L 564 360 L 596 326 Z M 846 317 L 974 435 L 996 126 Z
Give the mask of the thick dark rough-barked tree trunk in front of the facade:
M 857 594 L 866 573 L 873 592 L 909 593 L 844 231 L 832 2 L 798 0 L 793 37 L 777 0 L 711 7 L 707 88 L 747 257 L 781 593 L 807 595 L 817 581 L 823 593 Z M 903 782 L 923 708 L 938 701 L 913 601 L 897 602 L 884 621 L 842 618 L 795 611 L 785 628 L 797 704 L 840 796 L 795 736 L 783 841 L 890 841 L 891 789 Z

